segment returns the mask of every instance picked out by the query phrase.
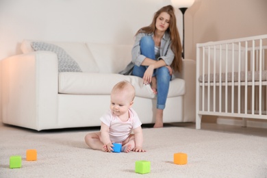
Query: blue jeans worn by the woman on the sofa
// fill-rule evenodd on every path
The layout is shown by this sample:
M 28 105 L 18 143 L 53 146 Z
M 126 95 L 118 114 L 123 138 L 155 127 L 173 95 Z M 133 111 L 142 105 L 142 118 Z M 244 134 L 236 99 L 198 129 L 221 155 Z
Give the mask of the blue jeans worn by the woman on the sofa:
M 144 36 L 140 40 L 141 54 L 147 58 L 155 59 L 155 42 L 151 36 Z M 143 77 L 147 66 L 134 66 L 133 73 L 138 77 Z M 171 75 L 166 66 L 156 68 L 153 76 L 157 79 L 157 109 L 164 110 L 168 95 L 168 88 L 170 86 Z

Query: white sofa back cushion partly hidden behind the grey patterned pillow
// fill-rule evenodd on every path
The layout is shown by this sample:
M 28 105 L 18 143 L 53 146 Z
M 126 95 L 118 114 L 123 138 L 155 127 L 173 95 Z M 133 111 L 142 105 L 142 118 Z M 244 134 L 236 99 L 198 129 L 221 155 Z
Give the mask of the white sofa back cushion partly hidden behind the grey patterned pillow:
M 31 42 L 40 40 L 23 40 L 21 43 L 21 51 L 23 53 L 34 52 L 31 47 Z M 49 41 L 43 41 L 49 42 Z M 68 53 L 78 64 L 83 72 L 98 73 L 99 67 L 94 61 L 92 53 L 84 42 L 49 42 L 51 44 L 58 45 Z

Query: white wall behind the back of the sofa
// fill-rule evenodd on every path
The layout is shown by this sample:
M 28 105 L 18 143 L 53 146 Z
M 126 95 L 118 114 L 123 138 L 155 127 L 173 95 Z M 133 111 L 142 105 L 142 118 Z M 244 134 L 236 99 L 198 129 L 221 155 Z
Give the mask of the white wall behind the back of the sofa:
M 166 0 L 1 0 L 0 60 L 23 39 L 132 44 Z

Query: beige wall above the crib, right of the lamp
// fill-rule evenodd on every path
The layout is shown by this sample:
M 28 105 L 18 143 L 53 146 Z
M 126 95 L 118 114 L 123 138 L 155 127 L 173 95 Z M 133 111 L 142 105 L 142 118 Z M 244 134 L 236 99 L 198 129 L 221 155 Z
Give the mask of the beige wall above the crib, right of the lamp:
M 196 43 L 267 34 L 266 0 L 196 0 L 186 11 L 186 58 Z

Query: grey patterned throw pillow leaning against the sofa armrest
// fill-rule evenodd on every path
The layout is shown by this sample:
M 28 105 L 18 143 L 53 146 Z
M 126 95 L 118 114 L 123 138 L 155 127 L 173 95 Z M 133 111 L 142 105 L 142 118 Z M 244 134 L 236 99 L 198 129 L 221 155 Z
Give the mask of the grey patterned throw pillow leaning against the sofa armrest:
M 31 42 L 34 51 L 51 51 L 58 55 L 58 72 L 82 72 L 79 64 L 64 49 L 47 42 Z

